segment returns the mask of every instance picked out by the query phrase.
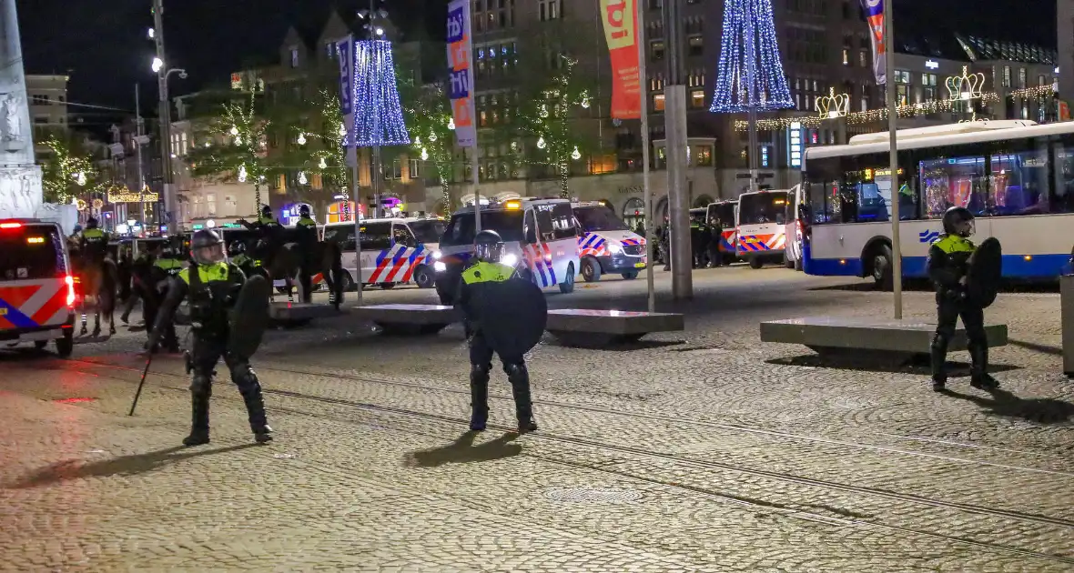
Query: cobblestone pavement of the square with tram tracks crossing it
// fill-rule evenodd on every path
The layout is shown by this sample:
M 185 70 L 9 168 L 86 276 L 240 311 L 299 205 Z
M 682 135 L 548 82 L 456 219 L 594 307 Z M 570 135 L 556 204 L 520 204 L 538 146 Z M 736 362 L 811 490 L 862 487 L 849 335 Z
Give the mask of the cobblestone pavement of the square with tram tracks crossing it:
M 657 274 L 658 288 L 667 277 Z M 1074 571 L 1071 382 L 1058 296 L 1003 295 L 1004 391 L 850 368 L 757 323 L 890 312 L 853 280 L 698 271 L 687 329 L 628 350 L 528 356 L 541 429 L 464 434 L 456 328 L 387 339 L 348 317 L 271 333 L 256 361 L 277 441 L 251 445 L 217 384 L 213 444 L 176 447 L 187 379 L 121 328 L 75 358 L 0 354 L 0 571 Z M 643 281 L 552 307 L 643 308 Z M 372 302 L 432 302 L 413 289 Z M 927 318 L 931 295 L 908 292 Z M 954 361 L 964 354 L 953 353 Z M 223 369 L 221 368 L 221 372 Z

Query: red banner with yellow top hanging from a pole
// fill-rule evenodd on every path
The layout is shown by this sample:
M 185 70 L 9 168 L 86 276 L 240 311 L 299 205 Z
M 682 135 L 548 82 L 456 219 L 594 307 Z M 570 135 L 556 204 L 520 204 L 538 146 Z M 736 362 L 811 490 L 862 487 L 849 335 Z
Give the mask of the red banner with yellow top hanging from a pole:
M 641 118 L 636 2 L 600 0 L 600 20 L 611 57 L 611 117 L 614 119 Z

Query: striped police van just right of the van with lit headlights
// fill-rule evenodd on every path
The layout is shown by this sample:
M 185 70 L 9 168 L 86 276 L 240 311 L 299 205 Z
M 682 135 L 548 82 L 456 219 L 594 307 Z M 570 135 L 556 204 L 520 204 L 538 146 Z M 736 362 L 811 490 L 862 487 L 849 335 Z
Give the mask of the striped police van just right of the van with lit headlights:
M 578 258 L 585 282 L 596 282 L 611 273 L 627 280 L 638 278 L 648 262 L 644 237 L 630 231 L 604 203 L 575 203 L 572 209 L 582 231 Z

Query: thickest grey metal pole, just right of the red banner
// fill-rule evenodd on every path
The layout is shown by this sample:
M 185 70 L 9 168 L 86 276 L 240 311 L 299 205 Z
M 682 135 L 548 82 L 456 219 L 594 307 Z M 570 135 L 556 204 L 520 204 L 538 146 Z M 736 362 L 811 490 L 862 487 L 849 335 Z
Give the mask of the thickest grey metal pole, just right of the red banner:
M 664 1 L 667 43 L 667 85 L 664 87 L 667 133 L 668 206 L 671 235 L 671 293 L 677 300 L 694 297 L 693 253 L 690 237 L 690 191 L 686 183 L 686 86 L 683 83 L 684 45 L 682 0 Z

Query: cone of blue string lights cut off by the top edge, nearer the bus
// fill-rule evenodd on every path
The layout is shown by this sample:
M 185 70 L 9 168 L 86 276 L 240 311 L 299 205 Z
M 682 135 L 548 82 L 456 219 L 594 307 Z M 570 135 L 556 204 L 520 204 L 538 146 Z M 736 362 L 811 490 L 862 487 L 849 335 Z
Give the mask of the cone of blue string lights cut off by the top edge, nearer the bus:
M 771 0 L 726 0 L 713 113 L 794 107 L 775 41 Z

